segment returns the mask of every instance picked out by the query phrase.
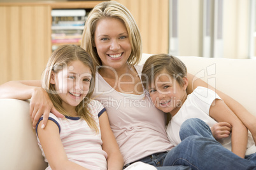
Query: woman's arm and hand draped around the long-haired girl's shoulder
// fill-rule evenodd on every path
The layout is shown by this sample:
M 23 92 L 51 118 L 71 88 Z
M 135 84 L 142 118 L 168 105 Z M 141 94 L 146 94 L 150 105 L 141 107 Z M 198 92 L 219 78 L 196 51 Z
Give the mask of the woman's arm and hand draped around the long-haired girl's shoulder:
M 39 118 L 43 115 L 43 126 L 46 126 L 49 113 L 57 117 L 64 117 L 53 107 L 45 89 L 41 88 L 41 81 L 10 81 L 0 86 L 0 98 L 15 98 L 27 100 L 31 98 L 29 114 L 33 128 L 36 128 Z

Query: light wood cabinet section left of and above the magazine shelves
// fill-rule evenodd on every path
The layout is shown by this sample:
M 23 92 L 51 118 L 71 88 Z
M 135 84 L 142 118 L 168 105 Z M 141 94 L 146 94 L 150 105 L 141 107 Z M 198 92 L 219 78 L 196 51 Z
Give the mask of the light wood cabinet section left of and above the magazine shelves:
M 0 84 L 41 79 L 52 53 L 52 10 L 92 9 L 101 2 L 0 3 Z

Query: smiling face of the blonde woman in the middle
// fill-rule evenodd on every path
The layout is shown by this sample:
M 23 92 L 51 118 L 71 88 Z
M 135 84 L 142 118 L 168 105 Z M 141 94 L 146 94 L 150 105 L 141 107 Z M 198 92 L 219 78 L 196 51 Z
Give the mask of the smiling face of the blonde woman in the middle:
M 94 35 L 103 66 L 119 69 L 127 65 L 132 48 L 124 23 L 116 18 L 99 20 Z

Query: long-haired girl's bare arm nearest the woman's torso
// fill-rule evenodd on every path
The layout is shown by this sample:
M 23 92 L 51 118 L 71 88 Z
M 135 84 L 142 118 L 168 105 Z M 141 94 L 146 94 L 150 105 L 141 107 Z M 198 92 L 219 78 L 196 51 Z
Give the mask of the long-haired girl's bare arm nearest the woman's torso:
M 108 169 L 122 169 L 124 160 L 117 145 L 117 141 L 115 140 L 115 136 L 111 131 L 106 112 L 99 117 L 99 126 L 101 129 L 101 139 L 103 140 L 103 150 L 108 154 Z

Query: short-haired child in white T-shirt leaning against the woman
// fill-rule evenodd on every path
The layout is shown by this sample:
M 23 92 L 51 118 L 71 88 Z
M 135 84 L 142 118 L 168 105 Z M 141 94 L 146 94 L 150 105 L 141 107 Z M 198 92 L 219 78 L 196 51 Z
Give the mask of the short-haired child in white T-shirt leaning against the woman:
M 187 95 L 187 68 L 181 60 L 169 55 L 154 55 L 143 66 L 142 81 L 155 107 L 171 114 L 167 136 L 178 145 L 180 126 L 190 118 L 199 118 L 210 127 L 216 122 L 229 122 L 232 136 L 220 141 L 225 148 L 244 158 L 256 152 L 251 134 L 224 101 L 208 88 L 197 87 Z M 248 127 L 250 130 L 250 127 Z M 256 134 L 253 134 L 256 136 Z M 232 140 L 232 143 L 231 143 Z M 247 147 L 246 147 L 247 146 Z

